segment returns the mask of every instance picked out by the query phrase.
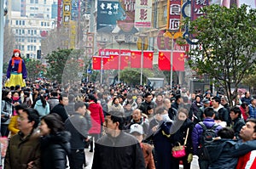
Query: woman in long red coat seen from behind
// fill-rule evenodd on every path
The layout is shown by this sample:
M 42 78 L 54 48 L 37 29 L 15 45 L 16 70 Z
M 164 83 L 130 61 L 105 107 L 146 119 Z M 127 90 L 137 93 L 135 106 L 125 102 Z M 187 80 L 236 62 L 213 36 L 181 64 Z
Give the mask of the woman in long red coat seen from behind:
M 91 128 L 89 134 L 92 136 L 90 141 L 90 152 L 93 152 L 93 138 L 95 141 L 100 138 L 102 132 L 102 124 L 104 122 L 104 114 L 102 110 L 102 105 L 97 103 L 96 97 L 90 93 L 89 98 L 89 108 L 90 118 L 91 118 Z

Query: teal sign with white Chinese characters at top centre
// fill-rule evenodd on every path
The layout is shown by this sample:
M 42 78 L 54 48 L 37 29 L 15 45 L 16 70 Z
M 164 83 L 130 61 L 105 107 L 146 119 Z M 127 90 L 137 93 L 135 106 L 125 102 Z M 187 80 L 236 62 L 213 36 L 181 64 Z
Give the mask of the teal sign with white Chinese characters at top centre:
M 117 20 L 125 20 L 125 10 L 118 1 L 102 0 L 97 5 L 97 31 L 110 32 Z

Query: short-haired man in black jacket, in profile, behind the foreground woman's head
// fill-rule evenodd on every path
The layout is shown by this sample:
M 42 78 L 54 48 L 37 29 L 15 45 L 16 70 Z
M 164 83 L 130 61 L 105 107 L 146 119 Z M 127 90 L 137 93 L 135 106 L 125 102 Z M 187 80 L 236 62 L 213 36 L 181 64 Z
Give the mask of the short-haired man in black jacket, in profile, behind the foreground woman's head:
M 56 113 L 61 116 L 63 122 L 65 122 L 68 118 L 67 111 L 65 107 L 68 104 L 67 94 L 62 94 L 59 98 L 59 104 L 55 105 L 55 107 L 50 110 L 50 113 Z

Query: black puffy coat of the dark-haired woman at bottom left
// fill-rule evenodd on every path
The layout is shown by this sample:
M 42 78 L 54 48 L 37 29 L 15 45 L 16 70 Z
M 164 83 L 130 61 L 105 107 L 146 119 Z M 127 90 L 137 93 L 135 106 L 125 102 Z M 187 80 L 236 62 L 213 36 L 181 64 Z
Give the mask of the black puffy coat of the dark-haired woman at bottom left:
M 70 137 L 69 132 L 57 132 L 41 138 L 42 169 L 66 168 Z

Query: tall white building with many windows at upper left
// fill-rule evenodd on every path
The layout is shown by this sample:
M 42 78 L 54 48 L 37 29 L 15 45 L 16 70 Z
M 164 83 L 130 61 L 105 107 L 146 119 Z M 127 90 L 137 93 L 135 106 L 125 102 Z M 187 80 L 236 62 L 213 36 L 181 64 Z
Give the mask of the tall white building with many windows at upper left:
M 8 0 L 7 23 L 15 35 L 15 48 L 22 56 L 37 58 L 41 40 L 55 28 L 56 0 Z

